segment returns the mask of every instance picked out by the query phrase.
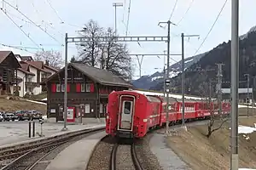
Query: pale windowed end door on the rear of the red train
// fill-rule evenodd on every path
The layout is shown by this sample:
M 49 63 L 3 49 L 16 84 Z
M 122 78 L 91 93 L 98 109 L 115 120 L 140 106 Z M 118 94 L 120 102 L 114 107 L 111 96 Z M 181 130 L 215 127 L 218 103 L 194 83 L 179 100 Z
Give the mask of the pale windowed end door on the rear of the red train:
M 119 130 L 132 131 L 135 98 L 121 96 L 119 105 Z

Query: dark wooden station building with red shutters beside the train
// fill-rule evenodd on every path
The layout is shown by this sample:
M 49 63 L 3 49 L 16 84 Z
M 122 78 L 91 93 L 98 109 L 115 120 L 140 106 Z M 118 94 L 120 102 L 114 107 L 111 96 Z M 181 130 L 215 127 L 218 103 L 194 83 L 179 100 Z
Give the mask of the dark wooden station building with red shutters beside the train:
M 70 63 L 67 68 L 67 107 L 75 109 L 76 118 L 104 117 L 108 94 L 132 88 L 129 82 L 110 71 L 78 63 Z M 63 68 L 41 83 L 48 89 L 48 117 L 55 117 L 56 122 L 63 120 L 64 76 Z

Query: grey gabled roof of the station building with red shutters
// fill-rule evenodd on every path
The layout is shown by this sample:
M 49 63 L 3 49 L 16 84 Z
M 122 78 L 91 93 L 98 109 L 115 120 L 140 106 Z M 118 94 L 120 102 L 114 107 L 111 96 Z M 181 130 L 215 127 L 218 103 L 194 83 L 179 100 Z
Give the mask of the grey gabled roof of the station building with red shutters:
M 102 85 L 107 86 L 120 86 L 125 88 L 132 88 L 131 83 L 126 82 L 123 78 L 115 76 L 112 72 L 107 70 L 98 69 L 96 67 L 79 64 L 79 63 L 70 63 L 74 69 L 80 71 L 84 76 L 89 77 L 94 82 L 98 82 Z M 65 68 L 62 68 L 61 71 L 64 71 Z M 59 72 L 61 72 L 59 71 Z M 51 78 L 55 77 L 59 72 L 55 73 L 51 77 L 48 77 L 44 82 L 48 82 Z

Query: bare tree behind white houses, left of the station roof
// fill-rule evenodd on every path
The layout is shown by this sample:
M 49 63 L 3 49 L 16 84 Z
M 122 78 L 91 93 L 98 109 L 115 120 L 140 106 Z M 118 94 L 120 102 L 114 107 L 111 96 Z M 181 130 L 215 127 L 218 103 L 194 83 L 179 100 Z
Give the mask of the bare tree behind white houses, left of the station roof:
M 35 61 L 47 61 L 49 63 L 49 66 L 52 66 L 56 69 L 60 69 L 64 64 L 61 53 L 59 51 L 54 50 L 38 51 L 33 57 L 33 59 Z

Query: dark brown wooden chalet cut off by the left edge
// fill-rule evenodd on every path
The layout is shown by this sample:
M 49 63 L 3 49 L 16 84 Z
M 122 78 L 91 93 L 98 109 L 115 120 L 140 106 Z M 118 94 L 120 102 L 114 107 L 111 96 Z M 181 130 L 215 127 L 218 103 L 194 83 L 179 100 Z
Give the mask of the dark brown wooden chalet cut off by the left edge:
M 0 51 L 0 95 L 13 94 L 14 87 L 22 81 L 17 77 L 17 69 L 21 68 L 18 59 L 11 51 Z

